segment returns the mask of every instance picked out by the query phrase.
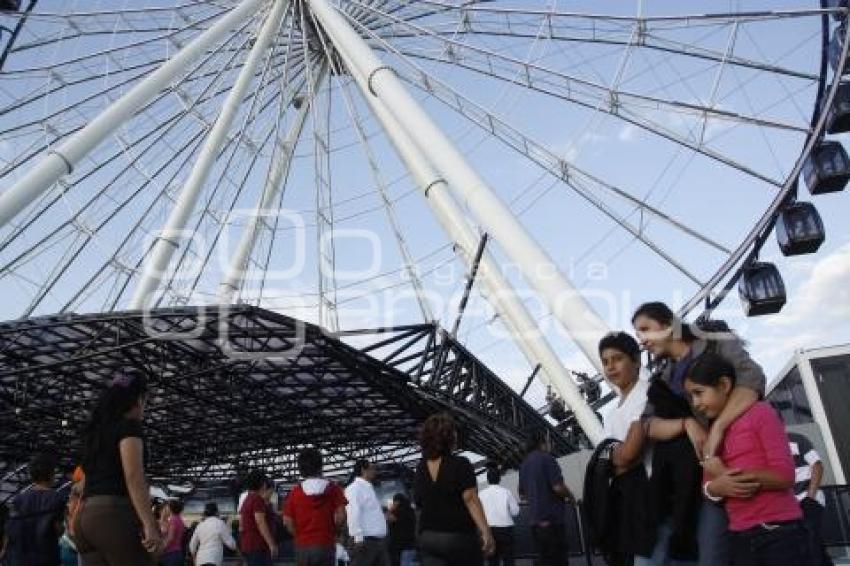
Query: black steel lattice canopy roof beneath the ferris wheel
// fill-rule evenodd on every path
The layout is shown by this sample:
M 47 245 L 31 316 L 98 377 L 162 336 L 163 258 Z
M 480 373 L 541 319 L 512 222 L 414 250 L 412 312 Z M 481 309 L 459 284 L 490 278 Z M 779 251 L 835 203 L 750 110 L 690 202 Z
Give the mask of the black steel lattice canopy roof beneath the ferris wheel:
M 153 481 L 224 480 L 250 467 L 292 480 L 305 445 L 323 450 L 330 475 L 357 457 L 411 461 L 417 427 L 438 411 L 456 417 L 462 450 L 509 466 L 530 432 L 548 434 L 557 455 L 575 449 L 435 325 L 334 337 L 250 306 L 57 315 L 0 324 L 7 491 L 36 451 L 74 462 L 89 408 L 127 366 L 150 379 Z

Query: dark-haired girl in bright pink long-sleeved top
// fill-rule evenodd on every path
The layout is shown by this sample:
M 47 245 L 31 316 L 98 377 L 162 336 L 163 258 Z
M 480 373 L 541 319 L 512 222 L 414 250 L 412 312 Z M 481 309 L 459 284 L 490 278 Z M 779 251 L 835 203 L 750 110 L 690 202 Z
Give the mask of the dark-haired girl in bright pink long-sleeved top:
M 735 370 L 719 355 L 697 358 L 685 378 L 694 408 L 719 415 L 735 387 Z M 706 472 L 705 496 L 724 500 L 734 566 L 810 564 L 802 511 L 792 490 L 794 461 L 779 416 L 764 401 L 727 428 L 719 457 L 722 473 Z

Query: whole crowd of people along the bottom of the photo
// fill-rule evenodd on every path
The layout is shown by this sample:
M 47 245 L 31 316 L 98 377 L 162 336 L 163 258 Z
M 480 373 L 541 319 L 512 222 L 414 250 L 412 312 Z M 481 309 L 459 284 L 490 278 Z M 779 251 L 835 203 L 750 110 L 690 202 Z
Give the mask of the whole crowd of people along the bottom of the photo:
M 615 565 L 789 566 L 830 564 L 819 540 L 823 466 L 811 443 L 789 436 L 763 400 L 765 377 L 743 341 L 723 325 L 691 325 L 662 303 L 632 318 L 636 338 L 605 336 L 599 356 L 617 394 L 606 436 L 587 470 L 584 503 L 594 541 Z M 650 355 L 641 377 L 641 352 Z M 567 517 L 575 497 L 547 438 L 529 438 L 518 498 L 487 467 L 479 490 L 458 454 L 452 416 L 423 423 L 412 501 L 381 502 L 373 462 L 354 463 L 344 489 L 323 477 L 315 448 L 297 458 L 300 481 L 283 505 L 261 471 L 245 478 L 235 529 L 208 503 L 191 527 L 177 500 L 153 504 L 145 477 L 147 381 L 114 377 L 84 432 L 70 489 L 57 490 L 55 459 L 36 456 L 32 485 L 16 496 L 4 532 L 8 566 L 220 565 L 225 549 L 248 566 L 270 566 L 281 544 L 299 566 L 490 566 L 514 563 L 520 502 L 536 562 L 569 561 Z M 415 509 L 415 510 L 414 510 Z

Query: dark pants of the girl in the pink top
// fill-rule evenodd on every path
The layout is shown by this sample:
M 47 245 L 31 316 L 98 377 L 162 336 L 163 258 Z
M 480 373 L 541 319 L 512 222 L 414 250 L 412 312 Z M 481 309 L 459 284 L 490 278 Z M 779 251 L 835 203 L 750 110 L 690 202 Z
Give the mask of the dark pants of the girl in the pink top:
M 732 533 L 732 566 L 810 566 L 803 521 L 759 525 Z

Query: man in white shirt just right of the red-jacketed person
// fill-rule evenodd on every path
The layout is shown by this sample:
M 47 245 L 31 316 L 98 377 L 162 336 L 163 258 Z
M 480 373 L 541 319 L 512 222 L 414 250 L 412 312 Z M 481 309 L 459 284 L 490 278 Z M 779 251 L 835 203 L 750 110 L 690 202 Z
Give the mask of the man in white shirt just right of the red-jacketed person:
M 354 481 L 345 488 L 351 566 L 389 566 L 387 519 L 372 482 L 377 470 L 367 460 L 354 463 Z

